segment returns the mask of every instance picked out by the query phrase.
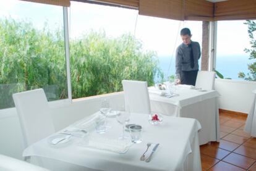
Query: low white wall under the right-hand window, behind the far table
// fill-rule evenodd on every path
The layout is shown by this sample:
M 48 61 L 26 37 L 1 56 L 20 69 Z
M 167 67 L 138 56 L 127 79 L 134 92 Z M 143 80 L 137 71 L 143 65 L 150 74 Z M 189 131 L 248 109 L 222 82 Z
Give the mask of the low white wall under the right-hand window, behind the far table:
M 216 79 L 215 90 L 220 93 L 220 109 L 248 114 L 254 100 L 255 81 Z

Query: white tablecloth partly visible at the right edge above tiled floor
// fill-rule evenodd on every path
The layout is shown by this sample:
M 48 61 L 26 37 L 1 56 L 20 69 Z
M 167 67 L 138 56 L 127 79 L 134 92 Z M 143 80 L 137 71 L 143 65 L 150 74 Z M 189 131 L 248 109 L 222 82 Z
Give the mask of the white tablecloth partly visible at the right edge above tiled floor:
M 247 133 L 250 133 L 251 136 L 256 137 L 256 114 L 255 114 L 256 90 L 254 90 L 253 93 L 254 93 L 254 101 L 252 102 L 252 107 L 250 108 L 250 112 L 248 114 L 248 117 L 245 123 L 244 131 L 246 131 Z

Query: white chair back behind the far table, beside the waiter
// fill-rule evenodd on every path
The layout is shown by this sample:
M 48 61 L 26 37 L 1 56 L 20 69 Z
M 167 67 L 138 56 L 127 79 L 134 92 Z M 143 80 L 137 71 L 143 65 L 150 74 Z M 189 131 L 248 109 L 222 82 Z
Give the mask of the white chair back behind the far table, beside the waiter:
M 198 71 L 195 87 L 202 88 L 202 90 L 214 90 L 215 75 L 216 73 L 213 71 Z

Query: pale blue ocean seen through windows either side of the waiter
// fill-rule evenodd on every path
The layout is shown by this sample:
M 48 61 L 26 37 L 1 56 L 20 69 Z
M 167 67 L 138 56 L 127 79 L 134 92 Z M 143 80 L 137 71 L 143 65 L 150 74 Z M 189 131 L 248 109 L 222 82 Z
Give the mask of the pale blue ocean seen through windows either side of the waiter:
M 164 79 L 170 75 L 175 74 L 175 57 L 171 56 L 158 56 L 160 69 L 164 73 Z M 233 80 L 242 80 L 238 78 L 239 72 L 249 73 L 248 64 L 254 62 L 253 59 L 249 59 L 248 55 L 241 56 L 217 56 L 216 70 L 220 72 L 224 78 L 231 78 Z M 201 60 L 199 60 L 199 69 Z M 155 80 L 158 80 L 155 78 Z

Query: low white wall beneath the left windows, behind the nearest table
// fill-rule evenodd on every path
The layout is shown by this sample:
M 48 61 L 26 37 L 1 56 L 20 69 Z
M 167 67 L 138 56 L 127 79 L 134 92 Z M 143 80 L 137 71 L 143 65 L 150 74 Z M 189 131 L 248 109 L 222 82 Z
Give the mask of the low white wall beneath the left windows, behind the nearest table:
M 65 101 L 49 102 L 49 106 L 53 110 L 53 122 L 56 130 L 61 130 L 98 111 L 103 97 L 109 99 L 110 106 L 114 109 L 124 104 L 123 93 L 95 96 L 72 103 Z M 22 159 L 23 139 L 15 108 L 0 110 L 0 137 L 0 154 Z

